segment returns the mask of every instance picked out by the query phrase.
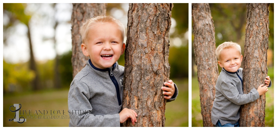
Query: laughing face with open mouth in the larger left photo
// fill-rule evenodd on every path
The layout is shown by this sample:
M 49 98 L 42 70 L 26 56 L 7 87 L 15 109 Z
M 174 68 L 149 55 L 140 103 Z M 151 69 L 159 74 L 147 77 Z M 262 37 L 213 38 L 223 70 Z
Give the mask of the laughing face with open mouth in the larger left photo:
M 89 30 L 87 42 L 81 45 L 83 54 L 89 56 L 99 69 L 111 67 L 123 54 L 125 44 L 121 31 L 114 23 L 97 23 Z

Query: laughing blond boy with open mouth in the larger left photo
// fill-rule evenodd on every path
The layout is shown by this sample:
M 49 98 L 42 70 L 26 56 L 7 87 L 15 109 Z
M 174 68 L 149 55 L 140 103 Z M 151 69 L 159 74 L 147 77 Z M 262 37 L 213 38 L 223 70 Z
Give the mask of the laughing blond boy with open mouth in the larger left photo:
M 93 17 L 81 29 L 81 48 L 89 56 L 86 66 L 74 77 L 68 94 L 71 115 L 69 126 L 112 126 L 131 118 L 137 122 L 137 113 L 122 109 L 124 67 L 117 60 L 125 49 L 124 26 L 110 16 Z M 164 98 L 174 101 L 176 85 L 169 80 L 162 87 Z

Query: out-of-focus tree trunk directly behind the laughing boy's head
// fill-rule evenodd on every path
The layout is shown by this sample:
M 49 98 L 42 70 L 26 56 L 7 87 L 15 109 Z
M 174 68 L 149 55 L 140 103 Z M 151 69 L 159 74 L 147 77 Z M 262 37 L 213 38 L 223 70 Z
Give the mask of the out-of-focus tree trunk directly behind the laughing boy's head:
M 90 17 L 105 15 L 106 14 L 105 3 L 73 3 L 72 15 L 71 15 L 71 34 L 72 34 L 72 68 L 73 78 L 80 72 L 86 65 L 89 57 L 83 55 L 81 44 L 80 27 Z

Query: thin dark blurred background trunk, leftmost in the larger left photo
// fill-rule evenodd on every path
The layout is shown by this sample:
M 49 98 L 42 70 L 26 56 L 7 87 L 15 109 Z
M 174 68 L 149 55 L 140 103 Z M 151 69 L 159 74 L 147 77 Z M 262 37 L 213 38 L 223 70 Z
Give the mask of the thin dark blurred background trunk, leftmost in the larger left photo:
M 28 28 L 28 40 L 29 40 L 29 48 L 30 48 L 30 70 L 33 70 L 35 72 L 35 78 L 32 80 L 32 89 L 33 90 L 39 90 L 41 89 L 39 85 L 39 72 L 36 68 L 36 60 L 33 52 L 33 47 L 32 47 L 32 40 L 31 40 L 31 33 L 30 33 L 30 27 L 27 25 Z

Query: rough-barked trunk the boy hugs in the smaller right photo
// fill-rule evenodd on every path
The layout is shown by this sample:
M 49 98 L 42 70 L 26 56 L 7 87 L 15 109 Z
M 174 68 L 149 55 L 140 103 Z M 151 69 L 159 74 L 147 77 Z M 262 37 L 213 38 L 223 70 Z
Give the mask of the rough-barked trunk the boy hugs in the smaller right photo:
M 247 4 L 245 27 L 243 92 L 256 89 L 267 76 L 267 50 L 269 36 L 269 4 Z M 241 105 L 241 127 L 264 127 L 265 94 L 251 103 Z

